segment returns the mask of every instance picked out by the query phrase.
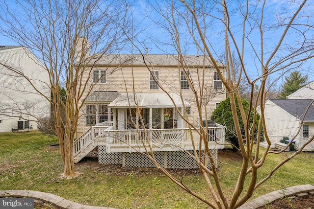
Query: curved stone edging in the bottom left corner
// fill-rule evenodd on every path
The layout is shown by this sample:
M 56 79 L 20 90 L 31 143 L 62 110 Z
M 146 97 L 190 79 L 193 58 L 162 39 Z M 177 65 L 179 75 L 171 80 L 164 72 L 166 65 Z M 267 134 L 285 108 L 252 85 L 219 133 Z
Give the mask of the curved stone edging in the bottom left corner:
M 113 209 L 81 205 L 54 194 L 34 190 L 0 190 L 0 197 L 29 197 L 46 203 L 51 203 L 62 209 Z

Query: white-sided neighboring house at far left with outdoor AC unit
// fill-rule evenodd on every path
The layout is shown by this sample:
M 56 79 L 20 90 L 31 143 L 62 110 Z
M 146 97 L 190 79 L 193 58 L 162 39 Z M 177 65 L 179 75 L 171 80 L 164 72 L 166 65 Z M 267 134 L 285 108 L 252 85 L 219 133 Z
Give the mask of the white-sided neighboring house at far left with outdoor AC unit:
M 0 132 L 37 129 L 36 117 L 49 114 L 49 101 L 34 88 L 50 96 L 42 63 L 26 47 L 0 46 Z

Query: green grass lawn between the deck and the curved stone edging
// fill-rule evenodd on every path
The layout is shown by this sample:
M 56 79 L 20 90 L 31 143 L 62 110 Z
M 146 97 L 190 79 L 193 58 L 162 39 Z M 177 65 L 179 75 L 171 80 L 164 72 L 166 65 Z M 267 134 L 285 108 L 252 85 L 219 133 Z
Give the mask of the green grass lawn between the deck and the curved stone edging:
M 62 162 L 59 150 L 50 144 L 57 139 L 40 132 L 0 134 L 0 190 L 27 189 L 52 193 L 84 205 L 126 209 L 204 209 L 200 200 L 188 195 L 163 175 L 136 176 L 130 183 L 130 175 L 110 175 L 89 166 L 80 169 L 75 179 L 60 179 Z M 228 155 L 227 155 L 228 153 Z M 260 170 L 259 179 L 266 176 L 276 163 L 288 156 L 270 155 Z M 230 152 L 222 152 L 219 160 L 240 166 L 239 158 L 230 158 Z M 86 162 L 85 162 L 86 163 Z M 302 153 L 285 164 L 264 185 L 256 190 L 252 198 L 278 190 L 281 186 L 303 184 L 314 185 L 314 154 Z M 79 163 L 75 165 L 76 169 Z M 233 192 L 238 169 L 219 163 L 221 185 L 227 197 Z M 128 181 L 129 180 L 129 181 Z M 183 183 L 191 190 L 209 195 L 200 174 L 183 176 Z M 131 185 L 130 185 L 131 184 Z M 132 188 L 130 194 L 128 191 Z

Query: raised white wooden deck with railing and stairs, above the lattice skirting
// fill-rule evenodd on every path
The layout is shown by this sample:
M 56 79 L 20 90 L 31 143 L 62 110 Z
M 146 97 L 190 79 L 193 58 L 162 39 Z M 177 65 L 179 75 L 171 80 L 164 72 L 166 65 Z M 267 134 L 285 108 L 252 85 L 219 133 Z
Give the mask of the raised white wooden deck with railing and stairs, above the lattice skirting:
M 209 137 L 209 149 L 224 149 L 225 129 L 215 130 L 215 136 Z M 211 131 L 211 133 L 213 133 Z M 192 137 L 191 137 L 192 136 Z M 194 141 L 192 141 L 192 138 Z M 106 146 L 107 153 L 177 151 L 193 150 L 193 144 L 199 149 L 199 136 L 196 130 L 189 129 L 146 129 L 113 130 L 113 126 L 92 126 L 74 142 L 74 160 L 78 163 L 97 146 Z M 201 149 L 204 149 L 202 143 Z

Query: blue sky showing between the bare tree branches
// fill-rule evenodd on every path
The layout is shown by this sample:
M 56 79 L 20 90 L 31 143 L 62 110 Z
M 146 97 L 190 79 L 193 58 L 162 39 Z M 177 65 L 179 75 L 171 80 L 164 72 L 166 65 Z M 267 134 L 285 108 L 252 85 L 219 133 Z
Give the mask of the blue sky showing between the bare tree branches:
M 6 1 L 11 9 L 19 9 L 18 4 L 15 3 L 13 0 Z M 164 11 L 166 11 L 166 7 L 163 5 L 163 1 L 149 1 L 153 6 L 160 6 L 164 8 Z M 257 0 L 250 0 L 250 4 L 255 5 L 257 4 Z M 175 3 L 180 3 L 179 0 L 175 1 Z M 1 4 L 1 2 L 0 2 Z M 258 7 L 255 8 L 256 10 L 260 10 L 262 8 L 261 4 L 257 4 Z M 238 14 L 237 8 L 238 8 L 238 1 L 237 0 L 230 0 L 228 1 L 228 6 L 230 8 L 230 11 L 232 12 L 232 9 L 235 9 L 232 12 L 232 30 L 234 32 L 234 36 L 236 41 L 241 40 L 241 24 L 242 24 L 242 16 Z M 289 1 L 284 0 L 269 0 L 265 4 L 265 13 L 264 13 L 264 22 L 267 24 L 276 24 L 280 23 L 280 21 L 284 22 L 285 17 L 291 16 L 291 14 L 296 10 L 298 6 L 297 2 L 291 3 Z M 313 4 L 306 5 L 303 9 L 302 13 L 300 13 L 300 17 L 304 16 L 305 14 L 313 17 L 313 11 L 314 6 Z M 184 12 L 182 10 L 182 12 Z M 251 11 L 253 12 L 253 11 Z M 304 12 L 304 13 L 303 13 Z M 216 15 L 214 12 L 212 15 Z M 151 54 L 160 54 L 160 53 L 176 53 L 174 48 L 171 45 L 162 45 L 162 44 L 155 44 L 156 41 L 152 41 L 153 39 L 158 39 L 159 42 L 162 43 L 172 43 L 172 41 L 169 39 L 170 34 L 166 33 L 164 31 L 164 28 L 161 28 L 156 23 L 154 23 L 150 18 L 154 19 L 157 18 L 159 23 L 163 23 L 163 19 L 154 9 L 150 7 L 147 1 L 145 0 L 137 0 L 135 1 L 134 7 L 132 8 L 132 18 L 136 19 L 137 23 L 140 23 L 140 27 L 144 28 L 145 30 L 140 32 L 139 36 L 139 42 L 142 45 L 141 49 L 144 51 L 145 48 L 148 48 L 148 52 Z M 281 20 L 280 20 L 281 19 Z M 280 20 L 280 21 L 279 21 Z M 210 21 L 210 20 L 206 20 Z M 300 23 L 304 23 L 302 21 L 306 21 L 306 18 L 302 18 Z M 313 24 L 313 20 L 308 20 L 309 24 Z M 3 24 L 3 23 L 0 23 Z M 212 24 L 208 27 L 208 43 L 212 45 L 212 50 L 216 51 L 217 54 L 220 54 L 220 51 L 223 51 L 224 49 L 224 42 L 222 42 L 222 33 L 223 26 L 219 23 L 219 20 L 214 20 Z M 182 45 L 186 48 L 185 53 L 186 54 L 198 54 L 199 51 L 196 50 L 196 47 L 190 43 L 189 36 L 185 36 L 184 34 L 187 34 L 187 30 L 184 26 L 180 28 L 180 32 L 182 35 L 182 41 L 189 42 L 189 45 Z M 250 33 L 249 39 L 250 42 L 254 45 L 258 46 L 260 36 L 257 33 L 257 30 L 254 30 Z M 266 50 L 270 50 L 275 46 L 275 44 L 278 42 L 279 34 L 281 33 L 281 29 L 278 30 L 272 30 L 272 28 L 269 28 L 269 32 L 265 31 L 264 36 L 264 45 Z M 314 37 L 314 31 L 312 28 L 312 31 L 309 30 L 306 32 L 308 36 Z M 289 43 L 291 41 L 294 41 L 299 39 L 299 34 L 291 34 L 289 39 L 284 40 L 283 44 Z M 250 46 L 250 42 L 246 41 L 244 46 L 245 51 L 245 59 L 244 63 L 247 69 L 249 69 L 250 76 L 256 77 L 259 75 L 260 71 L 260 64 L 258 63 L 258 59 L 255 56 L 255 53 L 259 53 L 258 51 L 253 51 L 253 48 Z M 13 41 L 11 41 L 9 38 L 0 36 L 0 45 L 17 45 Z M 159 47 L 159 48 L 158 48 Z M 268 48 L 269 47 L 269 48 Z M 233 47 L 233 50 L 235 48 Z M 256 50 L 256 48 L 255 48 Z M 127 53 L 128 51 L 126 51 Z M 283 51 L 283 53 L 287 53 L 287 51 Z M 265 54 L 266 55 L 266 54 Z M 268 53 L 269 55 L 269 53 Z M 216 55 L 215 55 L 216 56 Z M 218 58 L 216 56 L 216 58 Z M 265 56 L 264 58 L 267 58 Z M 314 59 L 312 58 L 307 62 L 306 65 L 303 65 L 302 69 L 295 69 L 300 70 L 304 75 L 308 75 L 310 80 L 314 80 L 314 70 L 312 70 L 314 67 Z M 280 72 L 279 72 L 280 73 Z M 280 81 L 282 82 L 282 81 Z M 279 82 L 279 83 L 280 83 Z

